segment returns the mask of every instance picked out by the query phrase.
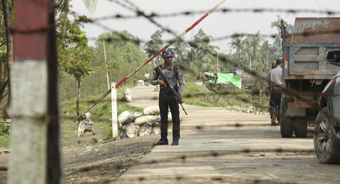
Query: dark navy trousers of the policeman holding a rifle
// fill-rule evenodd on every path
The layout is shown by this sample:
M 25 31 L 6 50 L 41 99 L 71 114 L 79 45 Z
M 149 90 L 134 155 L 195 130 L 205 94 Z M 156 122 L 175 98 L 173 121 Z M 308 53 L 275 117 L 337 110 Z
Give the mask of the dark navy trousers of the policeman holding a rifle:
M 180 120 L 179 106 L 175 99 L 175 95 L 169 92 L 163 96 L 164 89 L 159 92 L 159 110 L 161 114 L 161 139 L 160 141 L 168 141 L 168 109 L 170 108 L 172 116 L 172 141 L 178 141 L 180 138 Z

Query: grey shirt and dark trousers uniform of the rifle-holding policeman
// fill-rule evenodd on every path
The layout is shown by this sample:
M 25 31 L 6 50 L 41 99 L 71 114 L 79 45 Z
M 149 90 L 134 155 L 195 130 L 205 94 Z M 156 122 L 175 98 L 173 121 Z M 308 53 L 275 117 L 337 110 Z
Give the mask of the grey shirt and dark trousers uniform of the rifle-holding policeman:
M 171 67 L 168 69 L 164 64 L 160 65 L 160 68 L 162 69 L 165 76 L 169 77 L 170 83 L 173 85 L 172 87 L 177 90 L 177 93 L 179 95 L 182 95 L 182 92 L 184 90 L 184 82 L 183 82 L 183 73 L 182 71 L 174 66 L 171 65 Z M 165 82 L 165 79 L 157 74 L 155 71 L 153 71 L 153 78 L 151 79 L 152 85 L 157 85 L 157 80 L 163 80 Z M 177 81 L 179 84 L 179 87 L 177 85 Z M 168 85 L 168 84 L 166 84 Z M 170 87 L 164 87 L 160 86 L 159 91 L 159 110 L 160 110 L 160 116 L 161 116 L 161 139 L 160 141 L 164 141 L 168 143 L 168 109 L 171 111 L 172 116 L 172 141 L 177 141 L 180 138 L 180 119 L 179 119 L 179 106 L 178 102 L 175 99 L 174 94 L 172 93 Z

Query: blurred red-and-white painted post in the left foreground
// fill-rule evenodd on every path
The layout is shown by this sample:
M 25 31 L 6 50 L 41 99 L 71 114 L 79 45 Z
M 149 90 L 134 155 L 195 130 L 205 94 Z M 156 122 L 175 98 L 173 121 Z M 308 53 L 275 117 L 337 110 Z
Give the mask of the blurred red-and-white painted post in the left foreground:
M 53 0 L 16 0 L 8 184 L 61 184 Z

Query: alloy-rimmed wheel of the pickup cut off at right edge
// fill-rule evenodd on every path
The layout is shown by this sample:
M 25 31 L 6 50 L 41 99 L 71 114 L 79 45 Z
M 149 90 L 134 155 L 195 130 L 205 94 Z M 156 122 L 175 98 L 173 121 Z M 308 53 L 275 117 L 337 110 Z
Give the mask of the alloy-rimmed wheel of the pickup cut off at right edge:
M 314 150 L 321 164 L 340 164 L 340 140 L 330 128 L 328 108 L 320 110 L 314 126 Z

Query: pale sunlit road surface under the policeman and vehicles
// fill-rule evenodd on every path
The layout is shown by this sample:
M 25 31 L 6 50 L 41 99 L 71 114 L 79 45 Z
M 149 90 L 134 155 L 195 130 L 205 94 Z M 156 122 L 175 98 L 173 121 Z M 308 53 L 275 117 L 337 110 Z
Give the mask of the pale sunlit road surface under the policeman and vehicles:
M 153 86 L 135 87 L 132 95 L 133 106 L 158 105 Z M 271 126 L 267 115 L 184 108 L 188 115 L 180 110 L 179 146 L 153 147 L 115 183 L 339 183 L 340 166 L 319 164 L 312 134 L 281 138 L 280 127 Z M 168 138 L 171 142 L 171 135 Z

